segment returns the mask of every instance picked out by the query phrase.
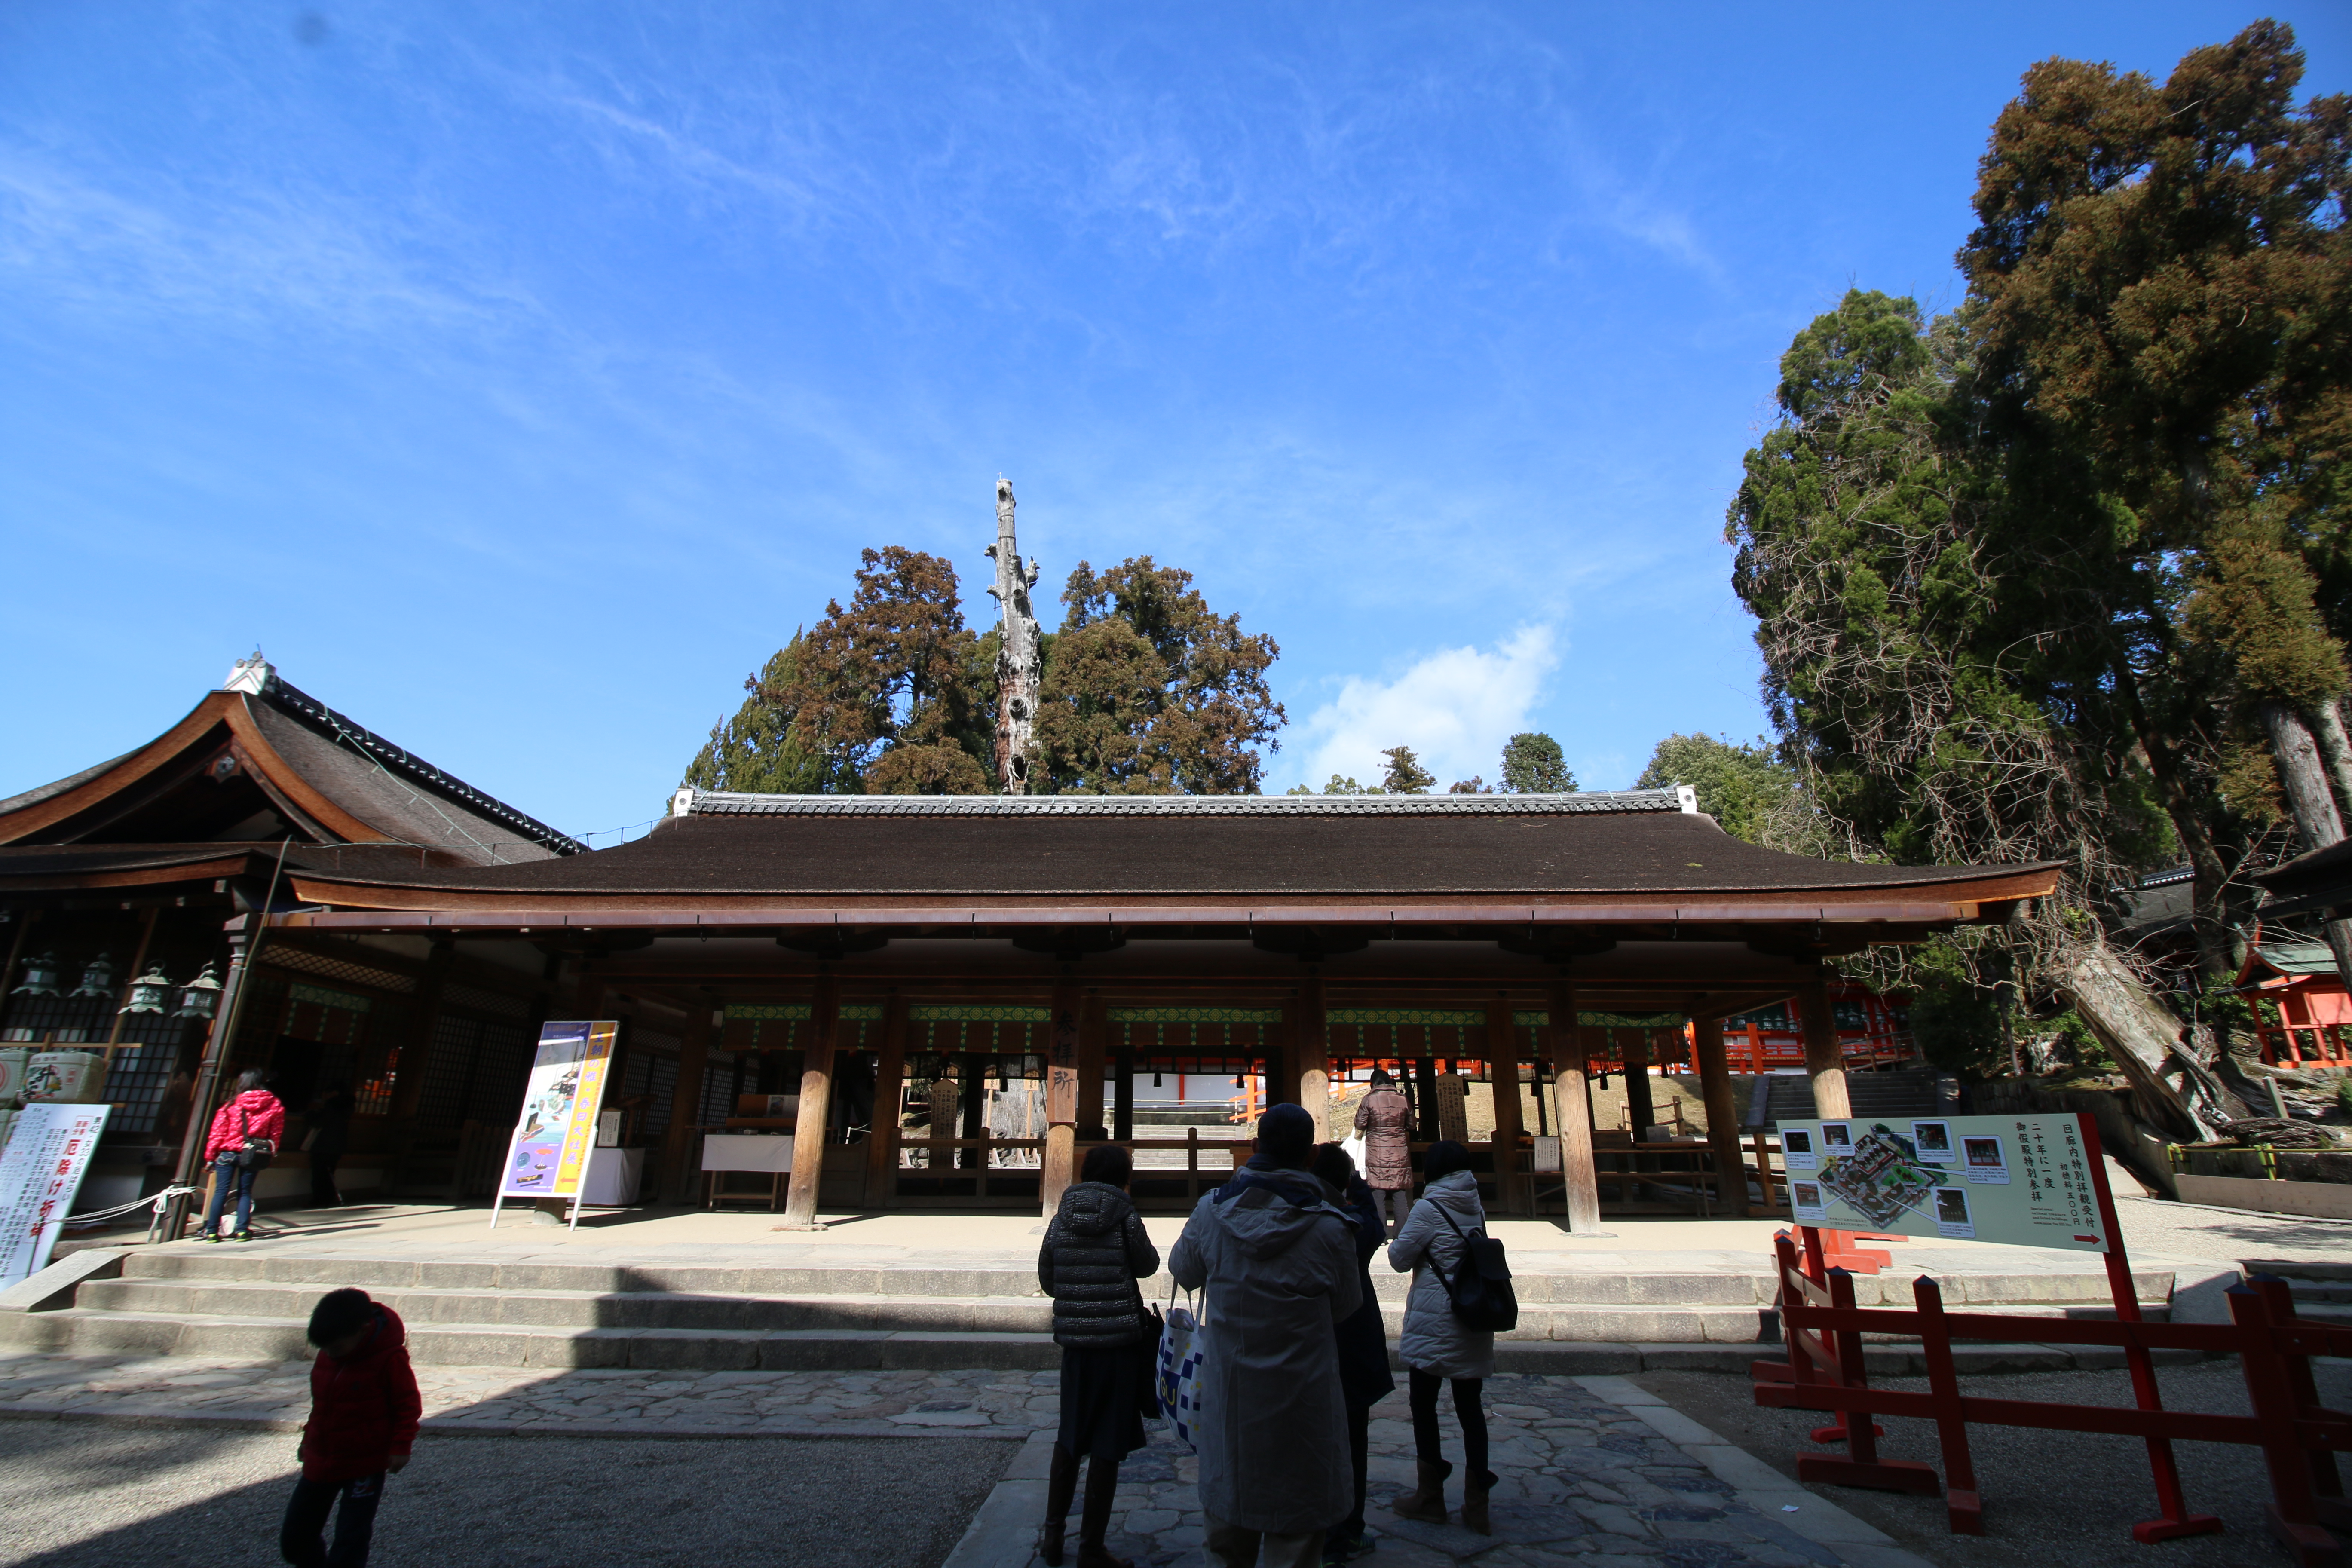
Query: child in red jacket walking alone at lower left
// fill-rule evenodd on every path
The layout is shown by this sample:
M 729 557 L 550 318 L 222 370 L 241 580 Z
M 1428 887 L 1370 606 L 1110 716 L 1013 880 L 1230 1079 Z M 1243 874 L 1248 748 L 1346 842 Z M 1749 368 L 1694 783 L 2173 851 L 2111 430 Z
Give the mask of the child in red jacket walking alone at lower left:
M 360 1568 L 376 1533 L 386 1472 L 400 1472 L 416 1443 L 416 1373 L 400 1314 L 367 1291 L 329 1291 L 310 1309 L 310 1420 L 301 1429 L 301 1481 L 287 1502 L 278 1549 L 294 1568 Z M 334 1549 L 327 1549 L 327 1512 Z

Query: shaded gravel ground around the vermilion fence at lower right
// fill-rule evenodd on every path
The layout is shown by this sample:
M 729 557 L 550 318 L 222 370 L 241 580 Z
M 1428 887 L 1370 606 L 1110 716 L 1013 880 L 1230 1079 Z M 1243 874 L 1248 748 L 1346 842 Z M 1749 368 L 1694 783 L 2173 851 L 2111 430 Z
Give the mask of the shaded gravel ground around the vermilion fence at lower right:
M 2314 1363 L 2319 1396 L 2333 1408 L 2352 1396 L 2352 1368 Z M 1769 1410 L 1750 1399 L 1745 1378 L 1719 1373 L 1639 1373 L 1628 1378 L 1670 1401 L 1691 1420 L 1712 1427 L 1785 1476 L 1797 1474 L 1797 1453 L 1823 1453 L 1809 1432 L 1820 1410 Z M 1926 1389 L 1924 1378 L 1872 1380 L 1889 1389 Z M 2164 1406 L 2246 1415 L 2246 1385 L 2234 1361 L 2157 1368 Z M 1964 1380 L 1962 1392 L 1997 1399 L 2049 1399 L 2063 1403 L 2131 1403 L 2129 1373 L 2020 1373 Z M 1943 1474 L 1936 1427 L 1926 1420 L 1886 1415 L 1879 1455 L 1924 1460 Z M 1985 1535 L 1945 1530 L 1940 1497 L 1907 1497 L 1858 1486 L 1816 1486 L 1858 1519 L 1867 1519 L 1898 1542 L 1943 1568 L 2244 1568 L 2286 1563 L 2263 1523 L 2270 1481 L 2260 1450 L 2239 1443 L 2176 1443 L 2180 1483 L 2190 1509 L 2218 1514 L 2225 1530 L 2143 1547 L 2131 1526 L 2157 1516 L 2157 1493 L 2147 1476 L 2140 1439 L 2086 1432 L 2034 1432 L 2027 1427 L 1969 1427 L 1976 1483 L 1985 1497 Z

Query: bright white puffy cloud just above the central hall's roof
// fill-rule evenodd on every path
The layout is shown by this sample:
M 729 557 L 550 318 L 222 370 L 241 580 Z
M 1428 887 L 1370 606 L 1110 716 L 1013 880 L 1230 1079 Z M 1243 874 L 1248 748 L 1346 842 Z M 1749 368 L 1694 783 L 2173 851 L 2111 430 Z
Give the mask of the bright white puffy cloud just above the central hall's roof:
M 1301 783 L 1331 773 L 1381 778 L 1381 752 L 1409 745 L 1437 788 L 1484 776 L 1494 783 L 1503 743 L 1526 729 L 1545 677 L 1559 665 L 1550 625 L 1526 625 L 1494 649 L 1437 649 L 1395 679 L 1350 677 L 1298 726 L 1287 750 Z

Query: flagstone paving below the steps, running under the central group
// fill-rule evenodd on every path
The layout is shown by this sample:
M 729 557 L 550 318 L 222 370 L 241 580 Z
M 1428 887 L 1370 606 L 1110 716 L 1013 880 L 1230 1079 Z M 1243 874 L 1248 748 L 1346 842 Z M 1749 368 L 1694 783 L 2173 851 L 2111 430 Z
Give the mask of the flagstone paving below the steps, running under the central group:
M 997 1486 L 995 1535 L 976 1530 L 955 1568 L 1021 1568 L 1044 1509 L 1042 1455 L 1056 1422 L 1058 1373 L 644 1373 L 421 1366 L 426 1422 L 452 1439 L 960 1436 L 1037 1439 Z M 5 1356 L 0 1415 L 122 1429 L 132 1425 L 287 1432 L 301 1425 L 308 1363 L 219 1363 L 165 1356 Z M 1381 1505 L 1414 1481 L 1402 1392 L 1374 1410 L 1367 1568 L 1898 1568 L 1870 1526 L 1719 1446 L 1616 1378 L 1496 1378 L 1486 1385 L 1496 1535 L 1390 1519 Z M 1451 1432 L 1451 1413 L 1446 1415 Z M 1682 1427 L 1675 1427 L 1682 1422 Z M 14 1429 L 16 1422 L 7 1422 Z M 0 1429 L 0 1432 L 7 1432 Z M 1703 1439 L 1703 1441 L 1700 1441 Z M 1717 1443 L 1710 1448 L 1708 1443 Z M 428 1436 L 419 1453 L 445 1450 Z M 1004 1453 L 1004 1448 L 995 1448 Z M 466 1446 L 466 1453 L 503 1455 Z M 1712 1458 L 1710 1458 L 1712 1455 Z M 1454 1446 L 1458 1460 L 1458 1441 Z M 489 1460 L 485 1462 L 503 1462 Z M 1120 1472 L 1110 1547 L 1138 1566 L 1195 1566 L 1195 1460 L 1162 1429 Z M 1461 1505 L 1461 1493 L 1451 1495 Z M 1073 1521 L 1075 1533 L 1075 1521 Z M 1825 1542 L 1839 1544 L 1825 1544 Z M 1889 1556 L 1891 1554 L 1891 1556 Z M 7 1561 L 0 1554 L 0 1561 Z

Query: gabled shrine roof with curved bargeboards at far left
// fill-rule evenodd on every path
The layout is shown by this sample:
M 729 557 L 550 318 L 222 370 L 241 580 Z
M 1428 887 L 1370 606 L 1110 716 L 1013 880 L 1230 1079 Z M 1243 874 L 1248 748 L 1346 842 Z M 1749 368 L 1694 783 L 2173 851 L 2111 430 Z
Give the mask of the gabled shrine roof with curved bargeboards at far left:
M 195 879 L 216 875 L 207 860 L 254 844 L 273 853 L 287 837 L 405 846 L 405 865 L 445 867 L 586 851 L 266 663 L 240 665 L 230 679 L 139 750 L 0 799 L 0 884 L 118 886 L 172 879 L 158 872 L 174 867 Z

